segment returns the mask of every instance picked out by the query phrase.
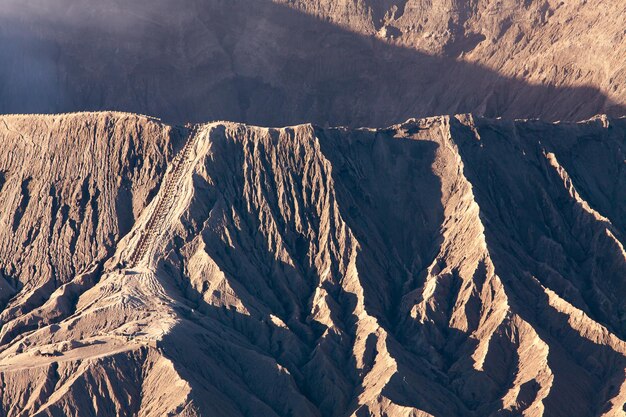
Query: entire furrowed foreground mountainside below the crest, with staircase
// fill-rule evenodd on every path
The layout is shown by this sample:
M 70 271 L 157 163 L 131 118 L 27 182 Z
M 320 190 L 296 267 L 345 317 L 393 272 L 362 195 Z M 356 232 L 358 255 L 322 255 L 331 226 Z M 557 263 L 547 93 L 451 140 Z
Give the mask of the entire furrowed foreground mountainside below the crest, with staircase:
M 624 119 L 3 120 L 6 415 L 624 412 Z

